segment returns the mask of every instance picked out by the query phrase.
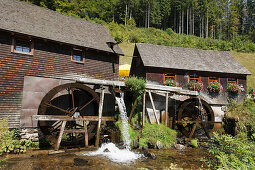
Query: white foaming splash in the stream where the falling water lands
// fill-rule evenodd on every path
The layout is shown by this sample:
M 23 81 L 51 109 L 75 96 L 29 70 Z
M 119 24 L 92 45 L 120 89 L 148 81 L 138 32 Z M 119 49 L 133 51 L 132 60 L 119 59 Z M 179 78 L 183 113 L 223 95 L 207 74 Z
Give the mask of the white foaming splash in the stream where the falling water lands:
M 131 152 L 129 149 L 119 149 L 113 143 L 104 143 L 97 151 L 89 152 L 84 155 L 102 155 L 117 163 L 130 163 L 142 156 L 141 154 Z

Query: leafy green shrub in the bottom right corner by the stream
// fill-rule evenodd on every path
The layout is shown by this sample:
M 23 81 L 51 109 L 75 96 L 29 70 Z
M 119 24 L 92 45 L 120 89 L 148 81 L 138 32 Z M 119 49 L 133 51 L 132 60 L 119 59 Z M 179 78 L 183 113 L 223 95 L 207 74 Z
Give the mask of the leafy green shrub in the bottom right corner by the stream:
M 207 160 L 209 167 L 216 169 L 255 169 L 255 144 L 230 135 L 214 133 L 209 143 Z

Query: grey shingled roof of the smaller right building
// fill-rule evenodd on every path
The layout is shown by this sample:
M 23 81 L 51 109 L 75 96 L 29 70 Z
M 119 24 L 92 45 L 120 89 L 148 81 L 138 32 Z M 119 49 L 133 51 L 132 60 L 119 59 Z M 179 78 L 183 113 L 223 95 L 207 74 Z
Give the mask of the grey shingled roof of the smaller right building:
M 229 53 L 193 48 L 136 44 L 144 66 L 182 70 L 251 74 Z

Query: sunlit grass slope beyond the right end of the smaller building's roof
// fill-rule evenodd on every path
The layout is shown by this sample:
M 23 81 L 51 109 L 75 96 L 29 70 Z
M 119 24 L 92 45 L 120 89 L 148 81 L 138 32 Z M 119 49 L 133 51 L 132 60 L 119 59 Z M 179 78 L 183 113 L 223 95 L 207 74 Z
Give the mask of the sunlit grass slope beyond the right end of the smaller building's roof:
M 247 76 L 247 87 L 255 89 L 255 53 L 229 52 L 238 62 L 240 62 L 252 75 Z

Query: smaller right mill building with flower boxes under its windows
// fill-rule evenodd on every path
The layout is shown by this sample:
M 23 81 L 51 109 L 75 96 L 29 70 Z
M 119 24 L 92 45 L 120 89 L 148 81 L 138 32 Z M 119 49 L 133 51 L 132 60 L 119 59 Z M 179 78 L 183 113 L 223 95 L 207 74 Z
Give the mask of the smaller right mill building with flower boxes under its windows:
M 200 49 L 169 47 L 152 44 L 136 44 L 130 75 L 143 77 L 148 84 L 165 85 L 166 80 L 172 80 L 177 88 L 188 89 L 189 82 L 202 82 L 203 88 L 199 97 L 213 116 L 210 121 L 221 122 L 224 116 L 228 98 L 242 101 L 246 98 L 247 75 L 251 73 L 236 61 L 229 53 Z M 210 93 L 207 89 L 212 81 L 219 82 L 223 90 L 220 93 Z M 229 83 L 241 87 L 239 95 L 227 91 Z M 149 101 L 149 97 L 148 101 Z M 165 112 L 164 95 L 154 93 L 154 110 Z M 169 114 L 180 121 L 182 114 L 189 117 L 192 106 L 187 107 L 192 99 L 190 96 L 170 96 Z M 185 101 L 186 104 L 185 104 Z M 224 107 L 223 107 L 224 106 Z M 182 108 L 183 107 L 183 108 Z M 147 113 L 153 115 L 152 105 L 146 103 Z M 198 106 L 193 107 L 196 110 Z M 186 111 L 185 111 L 186 109 Z M 179 113 L 178 113 L 179 112 Z M 186 113 L 184 113 L 186 112 Z M 178 115 L 179 114 L 179 115 Z M 183 118 L 185 119 L 185 116 Z M 195 120 L 193 120 L 195 121 Z

